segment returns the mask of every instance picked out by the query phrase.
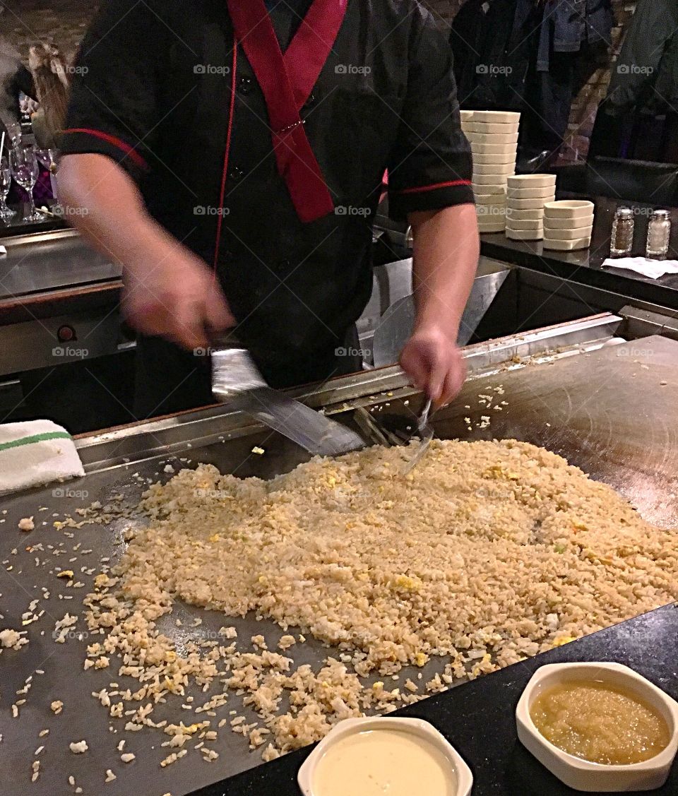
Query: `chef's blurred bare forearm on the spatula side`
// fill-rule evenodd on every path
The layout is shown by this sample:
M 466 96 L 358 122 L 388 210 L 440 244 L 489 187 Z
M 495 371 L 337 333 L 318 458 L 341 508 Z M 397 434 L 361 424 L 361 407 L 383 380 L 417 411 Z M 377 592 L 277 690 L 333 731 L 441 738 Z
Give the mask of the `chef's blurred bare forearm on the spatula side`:
M 160 256 L 166 247 L 176 248 L 176 241 L 147 213 L 132 178 L 110 158 L 64 157 L 57 185 L 69 222 L 127 271 L 139 274 L 152 267 L 150 252 Z

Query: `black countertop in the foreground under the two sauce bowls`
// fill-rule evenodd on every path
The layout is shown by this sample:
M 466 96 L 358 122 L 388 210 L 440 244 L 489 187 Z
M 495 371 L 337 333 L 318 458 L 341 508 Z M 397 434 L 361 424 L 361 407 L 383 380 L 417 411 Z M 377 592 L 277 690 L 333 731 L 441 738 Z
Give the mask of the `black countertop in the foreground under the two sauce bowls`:
M 393 715 L 426 719 L 446 736 L 473 771 L 472 796 L 577 794 L 538 763 L 516 735 L 516 704 L 532 673 L 541 665 L 563 661 L 625 663 L 678 699 L 678 606 L 658 608 L 600 630 Z M 310 748 L 197 790 L 193 796 L 299 796 L 297 772 Z M 678 761 L 666 784 L 652 793 L 678 793 Z

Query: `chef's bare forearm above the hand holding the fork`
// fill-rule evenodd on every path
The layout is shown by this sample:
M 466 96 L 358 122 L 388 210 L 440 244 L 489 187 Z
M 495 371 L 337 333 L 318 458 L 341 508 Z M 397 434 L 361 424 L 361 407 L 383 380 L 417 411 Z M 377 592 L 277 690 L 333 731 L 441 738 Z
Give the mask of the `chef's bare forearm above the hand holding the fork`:
M 456 341 L 477 271 L 480 244 L 473 205 L 411 213 L 415 330 Z

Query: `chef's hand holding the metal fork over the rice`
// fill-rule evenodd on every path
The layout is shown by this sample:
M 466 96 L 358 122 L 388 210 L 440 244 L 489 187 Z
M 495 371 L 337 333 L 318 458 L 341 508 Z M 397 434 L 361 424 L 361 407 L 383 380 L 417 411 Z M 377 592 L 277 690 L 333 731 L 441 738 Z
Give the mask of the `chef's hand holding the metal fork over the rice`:
M 456 341 L 436 327 L 415 330 L 400 354 L 400 366 L 435 408 L 449 404 L 466 380 L 466 362 Z

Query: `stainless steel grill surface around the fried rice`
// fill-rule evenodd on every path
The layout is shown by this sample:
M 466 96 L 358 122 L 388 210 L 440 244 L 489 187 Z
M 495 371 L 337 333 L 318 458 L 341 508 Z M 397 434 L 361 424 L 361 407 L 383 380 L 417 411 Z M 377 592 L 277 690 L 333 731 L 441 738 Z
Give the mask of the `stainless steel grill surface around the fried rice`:
M 462 439 L 515 437 L 547 447 L 593 478 L 614 486 L 649 521 L 678 525 L 678 342 L 659 336 L 624 341 L 624 330 L 622 318 L 604 315 L 466 349 L 472 377 L 458 400 L 436 414 L 436 434 Z M 518 361 L 519 357 L 530 355 L 528 360 Z M 464 406 L 471 405 L 472 412 L 480 415 L 477 396 L 490 382 L 503 384 L 508 406 L 493 416 L 490 427 L 474 426 L 473 431 L 467 431 L 463 418 L 469 410 Z M 398 416 L 401 421 L 405 418 L 414 422 L 422 404 L 421 396 L 407 386 L 403 374 L 395 368 L 342 378 L 305 400 L 311 405 L 323 405 L 326 412 L 347 421 L 351 408 L 374 406 L 378 418 Z M 410 405 L 405 406 L 403 400 L 410 400 Z M 386 407 L 386 403 L 390 405 Z M 84 479 L 22 494 L 2 506 L 7 513 L 2 515 L 5 522 L 0 525 L 0 560 L 6 562 L 0 568 L 0 612 L 4 615 L 0 628 L 21 629 L 21 615 L 33 599 L 41 599 L 38 611 L 45 609 L 39 621 L 24 628 L 28 630 L 29 646 L 19 652 L 5 650 L 0 655 L 2 794 L 72 793 L 68 776 L 73 775 L 85 794 L 162 796 L 169 792 L 181 796 L 259 765 L 260 755 L 250 754 L 242 736 L 224 728 L 220 732 L 220 757 L 215 763 L 204 763 L 189 744 L 185 759 L 161 769 L 159 762 L 168 750 L 159 746 L 157 732 L 124 732 L 124 720 L 111 724 L 107 710 L 91 693 L 108 688 L 111 681 L 119 682 L 121 688 L 138 684 L 117 677 L 115 659 L 110 669 L 83 671 L 84 647 L 92 640 L 86 636 L 77 638 L 80 631 L 86 630 L 82 618 L 64 644 L 53 642 L 56 619 L 67 611 L 80 615 L 82 599 L 92 587 L 92 577 L 81 574 L 84 588 L 66 587 L 62 579 L 56 578 L 56 572 L 72 568 L 77 577 L 83 566 L 99 572 L 102 557 L 115 560 L 119 556 L 129 521 L 115 521 L 108 527 L 85 526 L 73 532 L 71 539 L 53 529 L 52 515 L 95 500 L 107 502 L 118 492 L 127 501 L 135 501 L 147 481 L 170 477 L 162 471 L 168 461 L 175 467 L 212 462 L 224 472 L 270 478 L 289 470 L 307 455 L 288 440 L 252 425 L 251 420 L 228 408 L 190 412 L 142 427 L 93 435 L 81 439 L 79 445 L 88 470 Z M 251 449 L 255 445 L 263 447 L 265 455 L 253 455 Z M 175 457 L 190 461 L 177 462 Z M 129 461 L 125 462 L 125 458 Z M 40 511 L 41 506 L 49 510 Z M 19 519 L 31 515 L 36 529 L 32 533 L 18 531 Z M 67 552 L 55 556 L 48 545 L 56 546 L 62 541 Z M 36 544 L 42 544 L 44 550 L 26 549 Z M 72 552 L 76 544 L 81 546 Z M 69 562 L 72 557 L 76 561 Z M 42 599 L 41 587 L 49 589 L 48 600 Z M 60 595 L 72 599 L 60 599 Z M 181 628 L 174 626 L 177 617 L 185 620 Z M 201 626 L 190 627 L 194 617 L 203 620 Z M 223 615 L 184 606 L 175 608 L 162 630 L 173 634 L 181 646 L 189 638 L 215 638 L 216 630 L 224 623 L 234 624 L 241 640 L 263 633 L 274 644 L 282 635 L 282 630 L 270 622 L 255 622 L 252 617 L 224 622 Z M 331 653 L 310 639 L 306 645 L 294 648 L 293 657 L 296 662 L 317 665 Z M 427 664 L 424 677 L 442 669 L 440 664 L 439 660 Z M 37 669 L 45 674 L 37 674 Z M 21 705 L 20 716 L 14 719 L 10 706 L 21 698 L 15 692 L 31 675 L 32 687 Z M 407 671 L 401 673 L 403 680 L 405 676 Z M 192 688 L 186 696 L 195 696 L 201 702 L 208 694 Z M 64 702 L 60 716 L 54 716 L 49 709 L 53 700 Z M 244 712 L 237 698 L 229 697 L 212 721 L 228 718 L 228 710 L 236 708 L 239 713 Z M 157 708 L 155 720 L 170 717 L 163 710 L 162 706 Z M 194 720 L 188 711 L 183 716 L 176 713 L 175 710 L 172 714 L 174 721 Z M 38 733 L 44 728 L 49 728 L 49 735 L 39 738 Z M 122 738 L 127 738 L 125 751 L 137 755 L 127 766 L 120 762 L 116 750 Z M 89 751 L 73 755 L 68 744 L 81 739 L 87 740 Z M 42 745 L 45 750 L 35 757 L 34 751 Z M 36 759 L 41 761 L 41 777 L 32 785 L 31 763 Z M 107 768 L 118 778 L 104 786 Z

